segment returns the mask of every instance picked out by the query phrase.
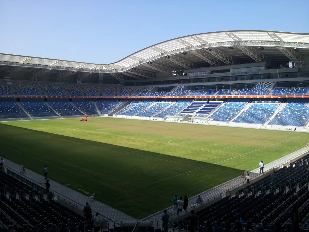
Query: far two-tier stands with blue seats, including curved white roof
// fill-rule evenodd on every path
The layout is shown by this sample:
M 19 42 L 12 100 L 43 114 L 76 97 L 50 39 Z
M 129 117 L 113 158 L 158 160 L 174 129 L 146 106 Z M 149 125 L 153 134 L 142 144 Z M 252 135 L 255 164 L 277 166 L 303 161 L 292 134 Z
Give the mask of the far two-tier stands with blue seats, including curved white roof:
M 0 120 L 89 114 L 304 131 L 309 123 L 308 33 L 210 32 L 110 64 L 0 54 L 0 65 Z

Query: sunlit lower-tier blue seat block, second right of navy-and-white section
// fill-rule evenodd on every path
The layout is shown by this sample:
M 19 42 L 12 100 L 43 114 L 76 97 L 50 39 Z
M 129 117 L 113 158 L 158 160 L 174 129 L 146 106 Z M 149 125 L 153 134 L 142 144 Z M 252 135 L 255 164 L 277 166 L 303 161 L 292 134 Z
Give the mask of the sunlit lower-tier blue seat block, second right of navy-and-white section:
M 264 124 L 276 111 L 278 103 L 252 103 L 233 122 Z

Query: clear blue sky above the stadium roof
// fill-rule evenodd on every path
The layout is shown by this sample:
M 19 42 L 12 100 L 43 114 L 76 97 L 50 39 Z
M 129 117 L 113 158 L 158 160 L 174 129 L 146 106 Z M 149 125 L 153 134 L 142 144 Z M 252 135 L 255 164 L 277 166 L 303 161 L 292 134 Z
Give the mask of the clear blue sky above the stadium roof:
M 0 0 L 0 53 L 112 63 L 196 33 L 309 33 L 308 9 L 309 0 Z

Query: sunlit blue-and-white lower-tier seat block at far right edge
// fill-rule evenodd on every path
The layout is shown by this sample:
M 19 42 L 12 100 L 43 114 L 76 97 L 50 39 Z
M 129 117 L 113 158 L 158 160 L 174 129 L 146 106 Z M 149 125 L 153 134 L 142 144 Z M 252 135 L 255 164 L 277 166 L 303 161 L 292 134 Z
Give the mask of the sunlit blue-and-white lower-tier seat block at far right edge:
M 270 125 L 304 127 L 308 123 L 309 107 L 305 102 L 287 103 L 277 115 L 270 120 Z

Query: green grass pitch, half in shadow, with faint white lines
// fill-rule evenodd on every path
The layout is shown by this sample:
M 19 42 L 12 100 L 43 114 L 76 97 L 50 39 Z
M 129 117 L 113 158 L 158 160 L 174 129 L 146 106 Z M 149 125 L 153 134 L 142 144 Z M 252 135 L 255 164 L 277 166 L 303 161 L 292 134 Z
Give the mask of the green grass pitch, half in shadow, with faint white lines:
M 141 219 L 305 147 L 309 134 L 79 118 L 0 123 L 1 156 Z M 83 190 L 83 191 L 82 191 Z M 191 203 L 191 202 L 190 202 Z M 102 212 L 103 213 L 103 212 Z

